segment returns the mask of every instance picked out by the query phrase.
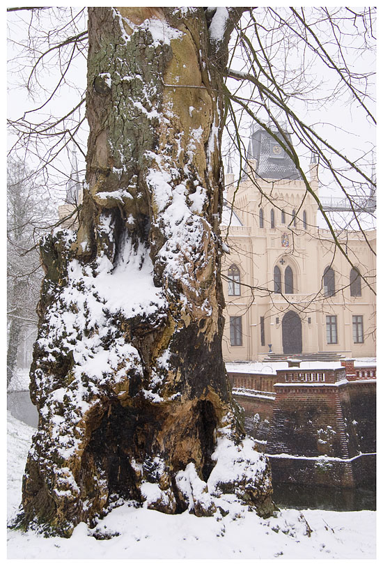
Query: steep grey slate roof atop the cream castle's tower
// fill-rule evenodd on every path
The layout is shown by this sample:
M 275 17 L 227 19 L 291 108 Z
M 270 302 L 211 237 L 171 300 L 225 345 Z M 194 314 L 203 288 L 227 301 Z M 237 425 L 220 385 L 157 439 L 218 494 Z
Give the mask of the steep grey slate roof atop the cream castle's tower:
M 283 141 L 281 135 L 277 136 Z M 290 134 L 286 133 L 291 140 Z M 302 179 L 294 163 L 281 149 L 281 155 L 274 155 L 272 148 L 277 146 L 276 140 L 260 128 L 251 134 L 247 158 L 256 160 L 256 174 L 265 179 Z

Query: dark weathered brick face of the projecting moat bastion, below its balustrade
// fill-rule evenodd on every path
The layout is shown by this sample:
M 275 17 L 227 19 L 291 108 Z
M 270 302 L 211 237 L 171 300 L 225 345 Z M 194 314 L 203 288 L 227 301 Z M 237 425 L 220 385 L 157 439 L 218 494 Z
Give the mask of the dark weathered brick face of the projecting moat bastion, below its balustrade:
M 375 482 L 376 383 L 275 389 L 266 452 L 276 482 L 335 487 Z M 368 455 L 359 457 L 360 452 Z

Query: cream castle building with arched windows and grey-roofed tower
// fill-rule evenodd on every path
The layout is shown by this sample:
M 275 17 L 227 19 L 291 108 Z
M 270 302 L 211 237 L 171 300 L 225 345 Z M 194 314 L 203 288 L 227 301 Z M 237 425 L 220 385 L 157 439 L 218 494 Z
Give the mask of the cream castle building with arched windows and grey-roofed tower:
M 221 226 L 230 250 L 222 263 L 224 359 L 263 360 L 270 351 L 375 356 L 375 295 L 366 283 L 375 277 L 375 230 L 366 241 L 362 231 L 336 229 L 342 254 L 329 229 L 318 228 L 318 203 L 287 156 L 283 165 L 272 139 L 258 137 L 262 148 L 250 154 L 255 170 L 263 160 L 256 184 L 247 178 L 238 187 L 226 174 L 227 201 L 234 192 L 235 199 Z M 309 178 L 318 194 L 315 162 Z

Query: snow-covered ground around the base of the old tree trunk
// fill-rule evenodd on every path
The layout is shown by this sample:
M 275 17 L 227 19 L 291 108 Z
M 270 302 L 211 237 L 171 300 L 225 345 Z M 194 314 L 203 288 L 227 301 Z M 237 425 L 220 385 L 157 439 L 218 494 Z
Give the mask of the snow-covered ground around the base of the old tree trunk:
M 32 434 L 31 427 L 8 412 L 8 521 L 15 517 L 21 498 Z M 93 530 L 80 523 L 70 539 L 8 529 L 8 558 L 376 558 L 373 511 L 282 509 L 272 519 L 260 519 L 230 496 L 220 504 L 228 511 L 225 517 L 219 513 L 216 517 L 198 518 L 188 512 L 166 515 L 134 509 L 125 503 Z

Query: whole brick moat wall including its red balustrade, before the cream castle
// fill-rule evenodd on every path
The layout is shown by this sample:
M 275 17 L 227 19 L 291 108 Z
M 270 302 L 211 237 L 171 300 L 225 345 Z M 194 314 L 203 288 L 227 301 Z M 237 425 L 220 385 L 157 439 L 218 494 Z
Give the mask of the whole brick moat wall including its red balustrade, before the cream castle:
M 347 371 L 352 368 L 345 366 Z M 342 374 L 333 370 L 311 383 L 290 381 L 288 372 L 229 374 L 235 388 L 247 389 L 235 389 L 234 397 L 244 408 L 247 431 L 260 441 L 258 449 L 270 455 L 274 480 L 370 486 L 375 481 L 376 381 L 355 381 L 357 370 L 349 374 L 351 381 L 339 381 Z M 295 372 L 297 377 L 306 379 Z

